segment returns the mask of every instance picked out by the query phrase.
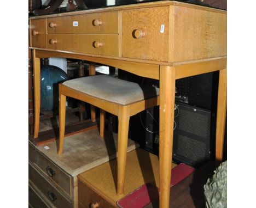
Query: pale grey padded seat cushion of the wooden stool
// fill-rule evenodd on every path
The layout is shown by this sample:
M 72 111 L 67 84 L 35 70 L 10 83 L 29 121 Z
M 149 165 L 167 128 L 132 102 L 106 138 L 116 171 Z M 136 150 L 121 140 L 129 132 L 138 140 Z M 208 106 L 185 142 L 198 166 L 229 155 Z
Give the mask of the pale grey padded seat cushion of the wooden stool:
M 159 95 L 159 88 L 139 85 L 108 75 L 71 79 L 63 82 L 63 85 L 98 99 L 118 103 L 119 105 L 128 105 Z

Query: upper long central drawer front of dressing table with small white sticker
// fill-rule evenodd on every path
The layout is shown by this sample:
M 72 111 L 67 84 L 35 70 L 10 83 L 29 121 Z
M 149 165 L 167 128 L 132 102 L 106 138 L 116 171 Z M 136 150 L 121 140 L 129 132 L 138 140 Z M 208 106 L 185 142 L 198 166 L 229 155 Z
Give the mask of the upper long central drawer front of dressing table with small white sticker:
M 48 34 L 118 34 L 118 11 L 47 19 Z

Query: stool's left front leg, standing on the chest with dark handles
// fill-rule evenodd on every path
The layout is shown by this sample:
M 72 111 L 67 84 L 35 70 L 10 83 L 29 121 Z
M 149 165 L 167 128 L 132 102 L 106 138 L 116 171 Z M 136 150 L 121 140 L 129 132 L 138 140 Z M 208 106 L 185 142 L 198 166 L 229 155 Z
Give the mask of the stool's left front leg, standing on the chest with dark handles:
M 61 94 L 61 85 L 59 85 L 59 149 L 58 154 L 62 154 L 63 141 L 65 136 L 65 118 L 66 118 L 66 96 Z

